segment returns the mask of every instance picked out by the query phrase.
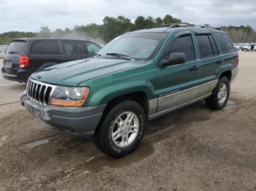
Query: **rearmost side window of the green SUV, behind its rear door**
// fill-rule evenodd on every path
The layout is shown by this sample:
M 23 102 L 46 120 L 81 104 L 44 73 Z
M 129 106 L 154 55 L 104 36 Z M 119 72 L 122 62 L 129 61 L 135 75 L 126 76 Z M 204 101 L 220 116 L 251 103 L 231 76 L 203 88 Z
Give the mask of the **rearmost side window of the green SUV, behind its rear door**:
M 230 42 L 230 39 L 228 38 L 227 34 L 214 33 L 214 35 L 216 36 L 216 39 L 219 42 L 219 46 L 223 54 L 234 51 L 233 44 Z

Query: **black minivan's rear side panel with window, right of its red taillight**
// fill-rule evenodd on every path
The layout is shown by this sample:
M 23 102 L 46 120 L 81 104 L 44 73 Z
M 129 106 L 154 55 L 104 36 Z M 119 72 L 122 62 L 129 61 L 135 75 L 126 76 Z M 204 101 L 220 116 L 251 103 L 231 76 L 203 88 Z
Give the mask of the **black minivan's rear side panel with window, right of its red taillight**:
M 59 43 L 56 39 L 33 41 L 29 52 L 29 68 L 32 71 L 61 62 Z

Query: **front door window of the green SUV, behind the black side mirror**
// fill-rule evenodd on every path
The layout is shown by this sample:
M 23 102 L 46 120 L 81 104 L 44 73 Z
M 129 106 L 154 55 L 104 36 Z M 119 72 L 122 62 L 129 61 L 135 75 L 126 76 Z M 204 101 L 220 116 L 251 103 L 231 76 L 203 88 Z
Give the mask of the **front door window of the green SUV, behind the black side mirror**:
M 180 36 L 170 46 L 170 53 L 184 53 L 187 56 L 187 61 L 195 60 L 195 50 L 191 35 Z

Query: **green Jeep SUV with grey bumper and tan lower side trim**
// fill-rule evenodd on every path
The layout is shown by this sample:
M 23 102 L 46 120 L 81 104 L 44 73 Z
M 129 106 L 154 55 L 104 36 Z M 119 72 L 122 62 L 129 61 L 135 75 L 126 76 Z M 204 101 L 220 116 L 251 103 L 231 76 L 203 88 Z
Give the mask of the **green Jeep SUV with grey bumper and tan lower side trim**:
M 118 36 L 94 58 L 52 66 L 29 78 L 21 104 L 59 130 L 93 136 L 123 157 L 148 120 L 201 99 L 222 109 L 238 53 L 219 28 L 172 24 Z

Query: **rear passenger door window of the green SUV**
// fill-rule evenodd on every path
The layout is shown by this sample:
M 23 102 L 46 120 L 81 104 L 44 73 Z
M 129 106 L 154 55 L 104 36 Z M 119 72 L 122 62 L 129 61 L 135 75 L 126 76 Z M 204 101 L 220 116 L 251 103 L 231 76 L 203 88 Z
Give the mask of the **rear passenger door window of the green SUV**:
M 200 50 L 200 58 L 208 58 L 214 55 L 208 35 L 197 35 L 197 42 Z

